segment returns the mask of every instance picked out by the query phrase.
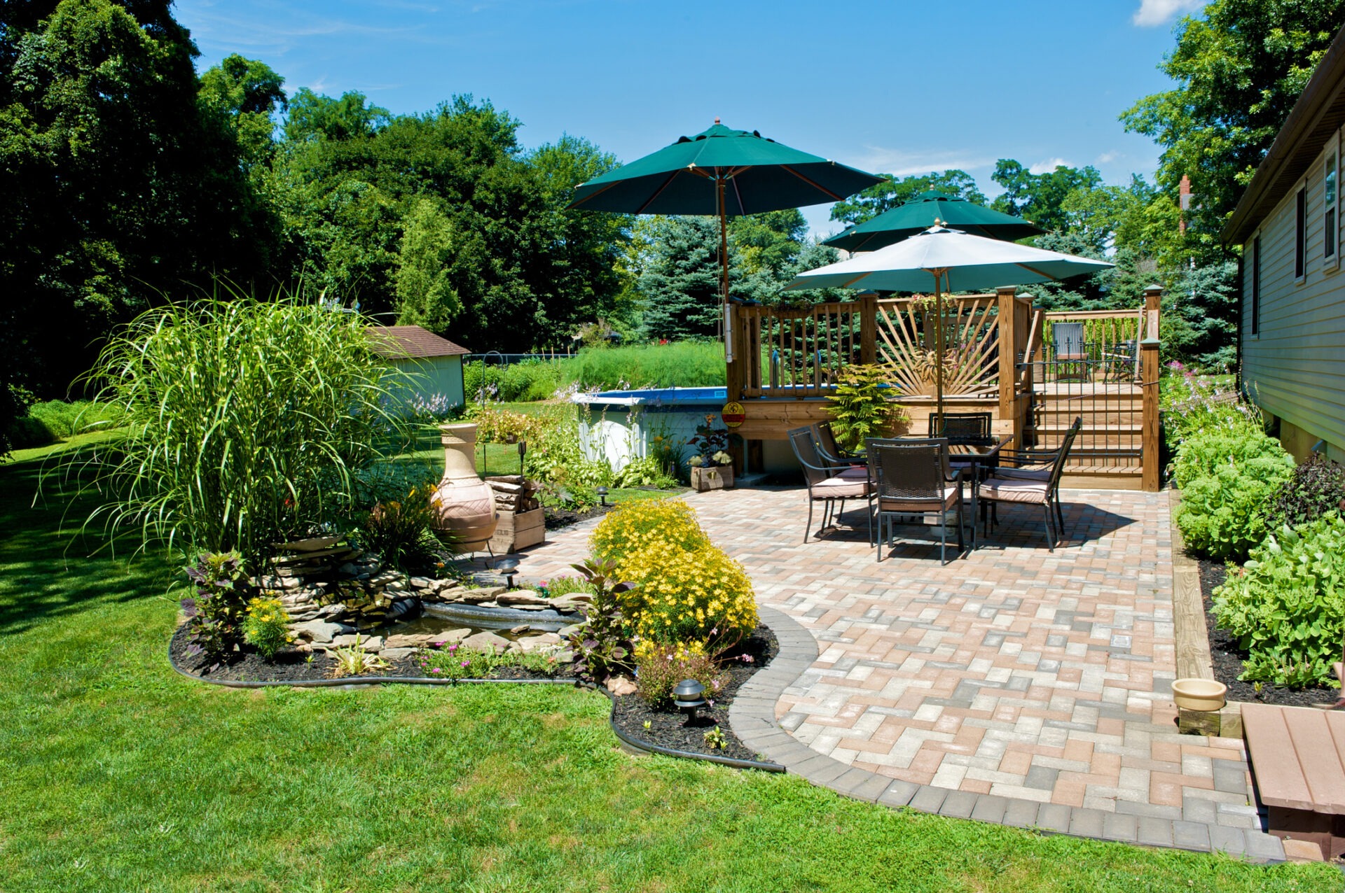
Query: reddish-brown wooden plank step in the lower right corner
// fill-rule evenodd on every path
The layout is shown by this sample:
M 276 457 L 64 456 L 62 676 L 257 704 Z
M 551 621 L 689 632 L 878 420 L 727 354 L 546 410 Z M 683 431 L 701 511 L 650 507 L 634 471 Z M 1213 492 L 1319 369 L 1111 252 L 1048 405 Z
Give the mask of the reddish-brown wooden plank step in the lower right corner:
M 1244 704 L 1243 736 L 1266 830 L 1345 854 L 1345 713 Z

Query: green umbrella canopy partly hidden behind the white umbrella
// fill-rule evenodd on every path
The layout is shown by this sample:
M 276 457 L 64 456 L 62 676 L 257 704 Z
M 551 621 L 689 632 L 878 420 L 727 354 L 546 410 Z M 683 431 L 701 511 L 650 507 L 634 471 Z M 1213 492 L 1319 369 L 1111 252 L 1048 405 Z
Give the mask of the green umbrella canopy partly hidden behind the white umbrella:
M 991 239 L 1026 239 L 1045 232 L 1041 227 L 999 211 L 943 192 L 923 192 L 911 201 L 884 211 L 872 220 L 849 227 L 822 244 L 845 251 L 876 251 L 932 226 L 946 226 Z

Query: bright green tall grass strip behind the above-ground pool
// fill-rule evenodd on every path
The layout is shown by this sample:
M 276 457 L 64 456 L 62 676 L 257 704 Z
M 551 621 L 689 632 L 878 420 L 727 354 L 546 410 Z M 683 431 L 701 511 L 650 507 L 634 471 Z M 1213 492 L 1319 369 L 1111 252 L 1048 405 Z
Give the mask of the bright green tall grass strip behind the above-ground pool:
M 561 363 L 580 388 L 703 388 L 724 384 L 724 345 L 716 341 L 585 348 Z

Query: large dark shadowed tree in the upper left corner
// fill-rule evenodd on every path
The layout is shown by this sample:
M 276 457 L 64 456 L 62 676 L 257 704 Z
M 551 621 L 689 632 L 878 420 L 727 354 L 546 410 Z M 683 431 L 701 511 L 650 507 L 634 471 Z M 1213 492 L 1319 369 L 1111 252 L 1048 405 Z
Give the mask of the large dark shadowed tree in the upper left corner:
M 265 269 L 265 234 L 168 0 L 3 15 L 0 387 L 63 396 L 116 322 L 184 282 Z

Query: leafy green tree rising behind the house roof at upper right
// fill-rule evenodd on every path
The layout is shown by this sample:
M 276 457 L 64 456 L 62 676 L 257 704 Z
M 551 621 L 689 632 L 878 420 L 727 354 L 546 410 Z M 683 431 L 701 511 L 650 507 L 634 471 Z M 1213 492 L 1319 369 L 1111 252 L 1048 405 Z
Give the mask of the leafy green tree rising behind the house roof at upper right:
M 1178 23 L 1159 66 L 1177 87 L 1122 114 L 1163 153 L 1158 185 L 1176 204 L 1182 176 L 1194 200 L 1188 251 L 1221 261 L 1219 232 L 1345 20 L 1345 0 L 1215 0 Z

